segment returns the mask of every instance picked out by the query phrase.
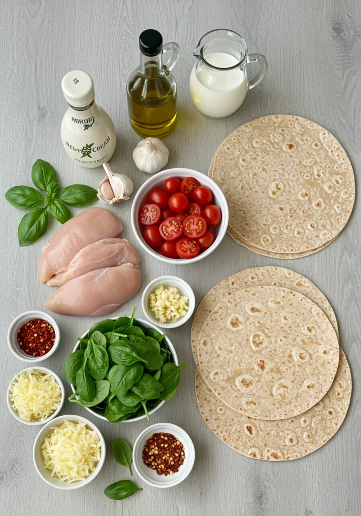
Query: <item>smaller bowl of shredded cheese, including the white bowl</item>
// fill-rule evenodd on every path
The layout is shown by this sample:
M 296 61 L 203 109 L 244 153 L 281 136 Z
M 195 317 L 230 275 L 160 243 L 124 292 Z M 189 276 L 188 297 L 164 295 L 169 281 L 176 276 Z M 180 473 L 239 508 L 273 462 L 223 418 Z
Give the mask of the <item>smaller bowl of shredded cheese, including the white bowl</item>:
M 23 369 L 9 382 L 7 404 L 25 425 L 44 425 L 60 412 L 65 398 L 58 375 L 46 367 Z

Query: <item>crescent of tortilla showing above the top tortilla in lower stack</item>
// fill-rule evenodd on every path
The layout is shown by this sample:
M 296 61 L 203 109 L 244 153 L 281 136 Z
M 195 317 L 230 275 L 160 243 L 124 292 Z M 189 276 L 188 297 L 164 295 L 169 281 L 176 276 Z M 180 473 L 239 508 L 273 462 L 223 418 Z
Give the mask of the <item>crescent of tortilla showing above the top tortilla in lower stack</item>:
M 208 294 L 204 296 L 198 309 L 193 317 L 191 330 L 192 352 L 195 365 L 198 367 L 197 343 L 202 326 L 208 315 L 217 306 L 217 304 L 229 295 L 239 291 L 241 288 L 259 285 L 275 285 L 290 288 L 308 297 L 311 301 L 320 307 L 329 318 L 337 336 L 338 327 L 335 312 L 322 292 L 317 286 L 307 278 L 284 267 L 252 267 L 241 270 L 233 276 L 224 279 L 218 285 L 213 287 Z

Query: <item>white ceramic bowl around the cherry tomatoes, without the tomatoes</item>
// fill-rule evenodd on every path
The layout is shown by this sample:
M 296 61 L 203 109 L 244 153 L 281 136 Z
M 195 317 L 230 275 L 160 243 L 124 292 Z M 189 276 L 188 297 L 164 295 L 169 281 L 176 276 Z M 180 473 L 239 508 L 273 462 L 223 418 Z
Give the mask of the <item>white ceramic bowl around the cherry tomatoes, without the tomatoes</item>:
M 150 192 L 150 190 L 152 190 L 153 188 L 163 188 L 163 184 L 166 179 L 172 177 L 183 179 L 188 178 L 189 176 L 192 176 L 193 178 L 197 179 L 201 183 L 201 185 L 208 186 L 208 188 L 212 190 L 214 196 L 213 204 L 216 204 L 220 208 L 222 212 L 222 221 L 217 228 L 214 228 L 216 239 L 214 243 L 209 247 L 209 249 L 206 249 L 201 254 L 198 254 L 197 256 L 194 256 L 194 258 L 190 258 L 189 260 L 167 258 L 166 256 L 163 256 L 162 254 L 154 251 L 152 248 L 149 247 L 149 245 L 145 243 L 138 221 L 139 208 L 143 204 L 147 203 L 147 195 Z M 210 253 L 212 253 L 216 249 L 216 247 L 219 246 L 225 235 L 225 232 L 227 231 L 228 217 L 229 213 L 227 201 L 220 187 L 216 185 L 216 183 L 212 179 L 208 178 L 208 175 L 202 174 L 201 172 L 197 172 L 196 170 L 192 170 L 190 168 L 170 168 L 168 170 L 163 170 L 162 172 L 154 174 L 151 178 L 145 181 L 145 183 L 143 183 L 143 185 L 139 188 L 132 204 L 132 228 L 139 244 L 147 252 L 149 252 L 149 254 L 151 254 L 158 260 L 174 265 L 187 265 L 190 263 L 199 262 L 200 260 L 203 260 L 203 258 L 208 256 Z

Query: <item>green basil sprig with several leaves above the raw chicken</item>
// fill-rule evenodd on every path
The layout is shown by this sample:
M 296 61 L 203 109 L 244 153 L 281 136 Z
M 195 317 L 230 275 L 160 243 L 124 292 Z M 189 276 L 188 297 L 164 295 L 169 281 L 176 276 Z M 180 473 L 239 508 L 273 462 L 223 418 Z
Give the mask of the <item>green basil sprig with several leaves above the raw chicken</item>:
M 91 186 L 70 185 L 61 191 L 54 168 L 42 159 L 38 159 L 32 166 L 31 180 L 45 193 L 45 198 L 31 186 L 13 186 L 5 193 L 5 199 L 15 208 L 35 208 L 20 221 L 18 238 L 21 247 L 43 236 L 48 225 L 48 208 L 53 217 L 64 224 L 72 217 L 65 204 L 86 206 L 96 200 L 96 190 Z M 40 204 L 45 204 L 45 207 L 37 208 Z

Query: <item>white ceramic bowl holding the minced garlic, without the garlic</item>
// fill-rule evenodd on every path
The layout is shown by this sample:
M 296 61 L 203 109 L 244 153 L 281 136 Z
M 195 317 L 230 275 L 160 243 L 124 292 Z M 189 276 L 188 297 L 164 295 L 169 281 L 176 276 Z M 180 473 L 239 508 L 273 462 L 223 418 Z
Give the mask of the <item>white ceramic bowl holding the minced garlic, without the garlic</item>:
M 157 287 L 163 285 L 165 288 L 176 287 L 178 289 L 178 293 L 180 296 L 188 297 L 188 306 L 189 309 L 183 317 L 179 317 L 176 322 L 165 322 L 161 323 L 157 319 L 153 317 L 153 312 L 150 306 L 149 296 L 152 292 L 155 291 Z M 160 328 L 177 328 L 178 326 L 182 326 L 187 320 L 192 316 L 195 308 L 195 298 L 194 293 L 188 285 L 188 283 L 181 278 L 177 278 L 176 276 L 159 276 L 155 280 L 151 281 L 148 286 L 144 288 L 144 292 L 142 295 L 142 309 L 145 314 L 145 317 L 152 322 L 152 324 L 156 324 Z

